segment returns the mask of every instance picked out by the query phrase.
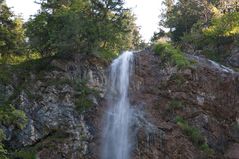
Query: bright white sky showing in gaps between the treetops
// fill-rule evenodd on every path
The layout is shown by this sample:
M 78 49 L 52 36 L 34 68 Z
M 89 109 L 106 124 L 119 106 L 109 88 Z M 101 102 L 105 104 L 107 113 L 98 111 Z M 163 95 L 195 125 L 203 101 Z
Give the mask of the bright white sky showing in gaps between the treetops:
M 15 14 L 21 14 L 25 21 L 40 9 L 34 0 L 6 0 Z M 153 33 L 158 30 L 159 15 L 162 10 L 162 0 L 125 0 L 126 6 L 132 8 L 141 28 L 140 33 L 144 40 L 149 41 Z

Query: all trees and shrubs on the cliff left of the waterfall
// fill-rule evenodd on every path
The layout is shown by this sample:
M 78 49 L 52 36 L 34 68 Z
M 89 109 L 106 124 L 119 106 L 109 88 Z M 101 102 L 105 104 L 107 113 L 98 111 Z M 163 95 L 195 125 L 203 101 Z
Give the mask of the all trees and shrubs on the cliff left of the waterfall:
M 40 0 L 38 3 L 41 10 L 24 23 L 0 0 L 0 86 L 13 87 L 10 97 L 2 95 L 4 91 L 0 90 L 0 126 L 24 128 L 27 117 L 16 109 L 16 99 L 22 91 L 29 98 L 37 98 L 27 88 L 29 76 L 34 72 L 36 79 L 40 79 L 43 70 L 52 69 L 53 59 L 81 54 L 109 62 L 119 52 L 138 49 L 142 43 L 135 17 L 122 0 Z M 48 84 L 61 82 L 51 80 Z M 82 82 L 69 84 L 74 87 L 74 104 L 81 113 L 92 105 L 89 94 L 97 92 Z M 0 158 L 9 156 L 3 144 L 4 131 L 0 127 Z

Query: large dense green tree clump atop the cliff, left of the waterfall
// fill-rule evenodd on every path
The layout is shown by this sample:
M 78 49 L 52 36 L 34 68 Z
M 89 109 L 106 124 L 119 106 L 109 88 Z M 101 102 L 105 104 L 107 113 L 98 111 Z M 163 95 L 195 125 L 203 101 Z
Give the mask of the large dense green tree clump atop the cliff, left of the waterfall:
M 84 53 L 108 60 L 139 45 L 135 18 L 121 0 L 41 1 L 41 5 L 26 33 L 31 48 L 43 56 Z

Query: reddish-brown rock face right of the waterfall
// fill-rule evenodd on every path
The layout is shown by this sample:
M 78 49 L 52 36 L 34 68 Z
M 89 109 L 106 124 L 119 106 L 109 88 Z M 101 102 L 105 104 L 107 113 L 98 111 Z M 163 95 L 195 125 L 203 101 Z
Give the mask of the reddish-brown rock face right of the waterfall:
M 131 99 L 134 105 L 143 105 L 147 120 L 157 128 L 140 131 L 135 158 L 218 159 L 238 153 L 232 146 L 239 139 L 238 73 L 190 55 L 193 64 L 184 70 L 162 64 L 152 51 L 135 56 Z M 180 127 L 179 117 L 188 128 Z M 198 136 L 204 144 L 195 142 Z M 205 145 L 209 147 L 204 149 Z

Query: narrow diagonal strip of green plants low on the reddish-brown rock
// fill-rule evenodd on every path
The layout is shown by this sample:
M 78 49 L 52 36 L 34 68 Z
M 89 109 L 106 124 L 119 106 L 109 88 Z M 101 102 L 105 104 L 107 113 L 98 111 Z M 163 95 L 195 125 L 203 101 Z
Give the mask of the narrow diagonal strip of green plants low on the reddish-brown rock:
M 199 129 L 192 127 L 180 116 L 176 116 L 176 123 L 182 129 L 183 133 L 190 138 L 192 143 L 208 156 L 213 156 L 214 151 L 209 148 Z

